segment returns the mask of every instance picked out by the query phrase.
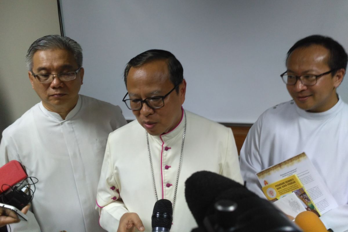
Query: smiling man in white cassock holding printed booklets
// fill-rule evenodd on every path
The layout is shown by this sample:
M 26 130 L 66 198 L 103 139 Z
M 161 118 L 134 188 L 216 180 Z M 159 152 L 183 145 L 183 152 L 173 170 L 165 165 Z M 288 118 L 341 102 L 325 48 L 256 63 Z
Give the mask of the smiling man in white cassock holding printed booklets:
M 333 39 L 296 42 L 281 75 L 293 99 L 261 114 L 240 151 L 246 186 L 261 197 L 255 173 L 305 152 L 339 205 L 320 217 L 335 232 L 348 230 L 348 105 L 336 93 L 346 67 L 347 54 Z

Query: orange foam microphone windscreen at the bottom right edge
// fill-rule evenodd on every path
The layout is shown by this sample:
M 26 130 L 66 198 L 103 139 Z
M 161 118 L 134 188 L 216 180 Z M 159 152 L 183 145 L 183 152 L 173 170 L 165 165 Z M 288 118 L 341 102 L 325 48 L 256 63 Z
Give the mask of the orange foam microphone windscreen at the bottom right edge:
M 319 217 L 311 211 L 303 211 L 295 218 L 295 223 L 303 232 L 327 232 Z

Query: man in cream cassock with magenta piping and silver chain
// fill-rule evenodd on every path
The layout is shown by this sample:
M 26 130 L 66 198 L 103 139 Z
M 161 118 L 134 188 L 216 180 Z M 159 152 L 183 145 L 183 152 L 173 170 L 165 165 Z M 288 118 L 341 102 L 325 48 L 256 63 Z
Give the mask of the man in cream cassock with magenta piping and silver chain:
M 124 80 L 123 101 L 137 120 L 109 136 L 97 191 L 99 223 L 108 231 L 151 231 L 153 206 L 164 198 L 174 208 L 171 231 L 190 231 L 197 226 L 184 195 L 191 174 L 209 170 L 243 182 L 232 131 L 183 109 L 183 68 L 168 51 L 132 58 Z

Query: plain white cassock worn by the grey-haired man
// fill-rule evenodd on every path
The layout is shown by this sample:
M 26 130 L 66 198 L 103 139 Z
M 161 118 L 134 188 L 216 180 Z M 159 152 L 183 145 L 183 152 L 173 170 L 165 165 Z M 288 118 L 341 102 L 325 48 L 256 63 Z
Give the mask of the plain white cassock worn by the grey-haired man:
M 32 206 L 41 231 L 104 231 L 95 212 L 96 190 L 108 135 L 125 124 L 119 106 L 79 95 L 65 120 L 40 102 L 3 131 L 0 166 L 18 160 L 39 180 Z M 40 230 L 33 224 L 11 229 Z

